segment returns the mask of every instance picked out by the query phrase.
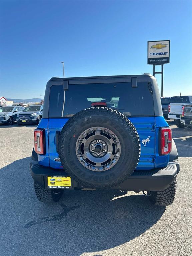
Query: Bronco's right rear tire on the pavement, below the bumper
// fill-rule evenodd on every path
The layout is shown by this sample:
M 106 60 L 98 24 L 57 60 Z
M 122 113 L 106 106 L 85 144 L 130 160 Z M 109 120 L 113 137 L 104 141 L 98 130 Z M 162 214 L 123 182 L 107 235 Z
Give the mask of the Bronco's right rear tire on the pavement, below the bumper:
M 171 205 L 175 199 L 177 181 L 175 180 L 167 189 L 163 191 L 152 191 L 149 200 L 154 205 Z

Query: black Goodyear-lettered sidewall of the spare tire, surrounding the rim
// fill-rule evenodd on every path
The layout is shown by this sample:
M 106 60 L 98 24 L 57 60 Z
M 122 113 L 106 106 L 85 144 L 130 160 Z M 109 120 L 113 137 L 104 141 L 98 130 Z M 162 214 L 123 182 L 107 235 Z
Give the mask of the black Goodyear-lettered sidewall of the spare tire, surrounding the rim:
M 133 140 L 134 132 L 125 123 L 122 125 L 122 118 L 108 113 L 91 112 L 82 113 L 76 120 L 71 120 L 73 125 L 67 135 L 59 143 L 59 156 L 64 168 L 72 174 L 74 179 L 80 184 L 90 187 L 111 187 L 125 180 L 135 169 L 138 162 L 138 143 Z M 76 156 L 76 141 L 80 134 L 91 127 L 104 127 L 113 131 L 121 144 L 121 155 L 118 162 L 110 169 L 102 172 L 96 172 L 84 167 Z M 66 127 L 67 128 L 67 127 Z M 128 133 L 130 136 L 128 136 Z M 61 137 L 61 136 L 60 136 Z M 135 142 L 135 143 L 134 143 Z M 65 146 L 67 145 L 67 146 Z

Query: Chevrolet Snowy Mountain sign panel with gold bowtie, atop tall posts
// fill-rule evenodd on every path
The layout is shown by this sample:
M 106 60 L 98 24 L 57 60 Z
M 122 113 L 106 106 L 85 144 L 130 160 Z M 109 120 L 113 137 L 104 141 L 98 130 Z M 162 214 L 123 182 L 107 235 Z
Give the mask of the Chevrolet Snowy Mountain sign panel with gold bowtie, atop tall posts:
M 148 41 L 147 64 L 162 65 L 169 63 L 170 40 Z

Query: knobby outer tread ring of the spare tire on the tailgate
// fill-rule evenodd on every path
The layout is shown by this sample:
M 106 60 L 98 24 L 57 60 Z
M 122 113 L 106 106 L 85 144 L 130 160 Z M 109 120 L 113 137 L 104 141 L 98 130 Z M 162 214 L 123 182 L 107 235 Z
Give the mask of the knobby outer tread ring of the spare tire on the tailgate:
M 134 157 L 136 158 L 136 165 L 135 166 L 129 166 L 129 168 L 127 169 L 127 173 L 123 174 L 118 180 L 114 181 L 114 182 L 109 182 L 107 184 L 101 184 L 101 185 L 94 185 L 83 181 L 79 179 L 76 175 L 73 174 L 73 172 L 68 168 L 66 161 L 65 161 L 65 156 L 64 154 L 60 154 L 60 152 L 64 152 L 64 141 L 65 138 L 68 134 L 68 132 L 70 131 L 71 127 L 77 122 L 77 120 L 79 118 L 79 115 L 81 115 L 82 113 L 85 113 L 86 111 L 94 111 L 94 110 L 101 110 L 101 111 L 106 111 L 108 115 L 117 115 L 119 117 L 119 122 L 121 122 L 121 124 L 123 126 L 126 127 L 127 132 L 130 134 L 131 140 L 133 141 L 133 145 L 135 142 L 137 142 L 137 145 L 135 147 L 135 149 L 133 148 L 133 150 L 135 150 L 135 154 Z M 122 113 L 118 112 L 117 110 L 111 109 L 111 108 L 107 108 L 107 107 L 90 107 L 87 109 L 84 109 L 78 113 L 76 113 L 73 118 L 69 119 L 67 121 L 67 123 L 64 125 L 64 127 L 61 130 L 61 134 L 59 137 L 59 158 L 61 159 L 62 165 L 63 165 L 63 169 L 69 174 L 69 176 L 71 176 L 74 180 L 76 180 L 78 183 L 87 186 L 87 187 L 99 187 L 99 188 L 110 188 L 110 187 L 114 187 L 119 185 L 120 183 L 124 182 L 135 170 L 136 166 L 138 165 L 139 159 L 140 159 L 140 154 L 141 154 L 141 144 L 140 144 L 140 139 L 139 139 L 139 135 L 137 133 L 136 128 L 134 127 L 134 125 L 132 124 L 132 122 Z M 130 171 L 131 170 L 131 171 Z

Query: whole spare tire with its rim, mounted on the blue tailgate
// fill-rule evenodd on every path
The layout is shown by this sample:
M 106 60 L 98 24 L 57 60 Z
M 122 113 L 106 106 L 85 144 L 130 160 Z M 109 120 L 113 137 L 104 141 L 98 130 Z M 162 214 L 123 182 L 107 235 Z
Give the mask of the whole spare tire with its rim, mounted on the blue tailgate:
M 106 107 L 91 107 L 71 117 L 60 133 L 58 148 L 68 175 L 94 188 L 109 188 L 126 180 L 141 151 L 134 125 Z

